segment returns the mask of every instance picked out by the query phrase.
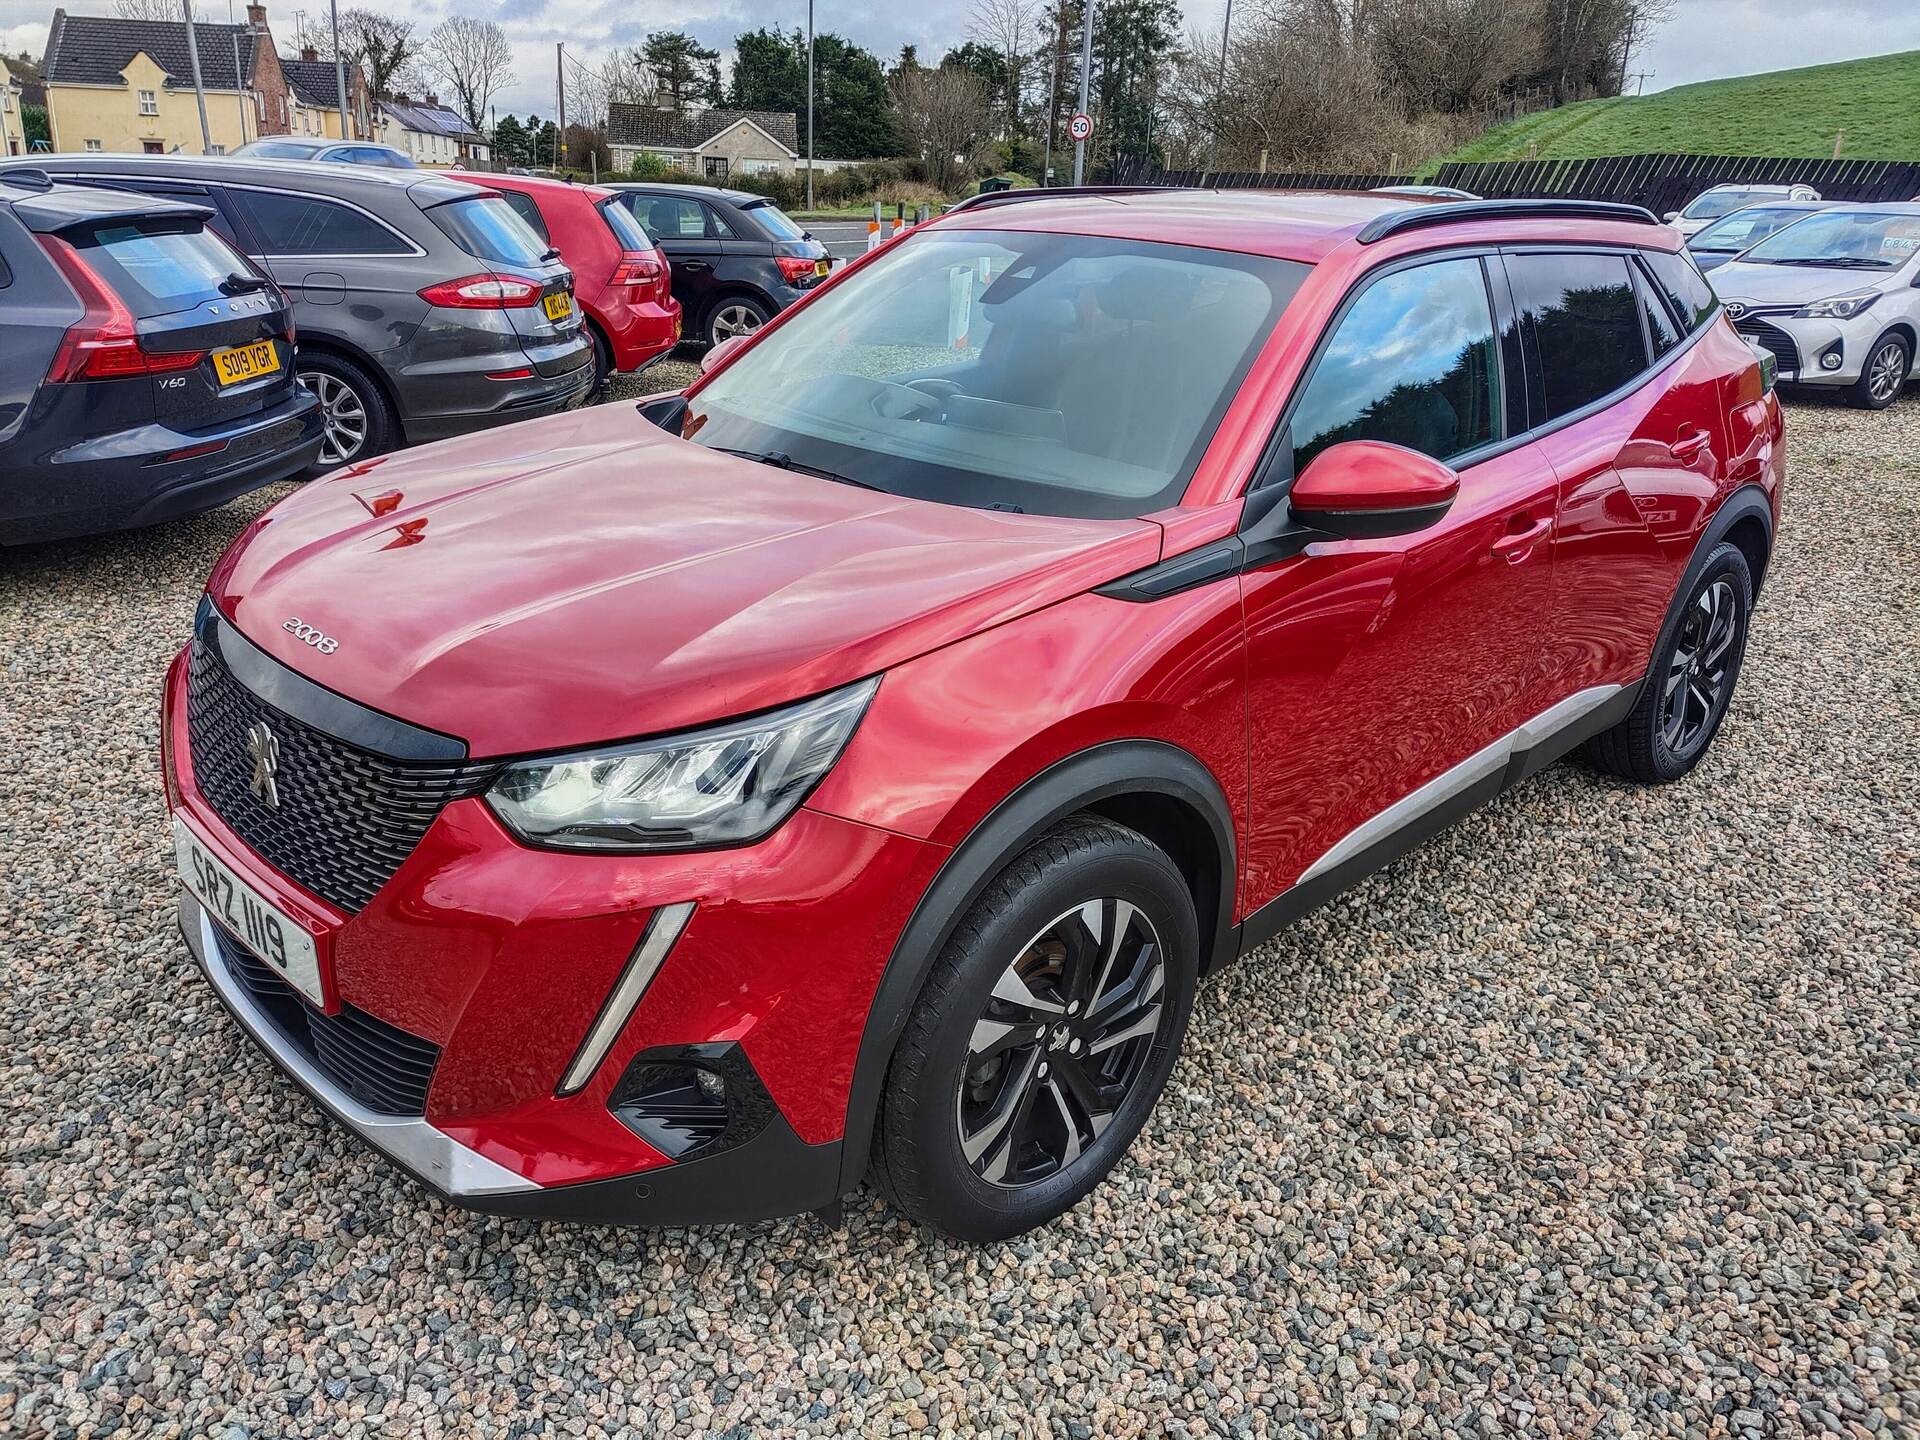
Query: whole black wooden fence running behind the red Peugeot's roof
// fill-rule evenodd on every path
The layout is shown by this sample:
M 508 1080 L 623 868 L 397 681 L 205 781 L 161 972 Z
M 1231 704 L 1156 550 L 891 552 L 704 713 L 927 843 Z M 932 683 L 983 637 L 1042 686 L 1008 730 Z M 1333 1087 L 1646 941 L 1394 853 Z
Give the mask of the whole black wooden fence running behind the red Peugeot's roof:
M 1411 175 L 1317 175 L 1311 171 L 1156 171 L 1140 156 L 1114 161 L 1116 184 L 1217 190 L 1375 190 L 1413 184 Z M 1488 200 L 1624 200 L 1655 215 L 1680 209 L 1715 184 L 1811 184 L 1824 200 L 1920 198 L 1920 163 L 1899 159 L 1766 159 L 1755 156 L 1605 156 L 1442 165 L 1430 184 Z

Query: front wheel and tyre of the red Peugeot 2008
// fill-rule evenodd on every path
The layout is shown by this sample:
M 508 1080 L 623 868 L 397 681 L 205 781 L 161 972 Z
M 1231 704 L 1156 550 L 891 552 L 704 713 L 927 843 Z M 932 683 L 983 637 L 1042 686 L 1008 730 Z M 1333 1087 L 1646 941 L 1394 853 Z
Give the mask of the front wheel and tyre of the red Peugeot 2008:
M 893 1052 L 874 1175 L 916 1221 L 1004 1240 L 1073 1208 L 1167 1083 L 1200 927 L 1173 862 L 1106 820 L 1023 851 L 962 918 Z

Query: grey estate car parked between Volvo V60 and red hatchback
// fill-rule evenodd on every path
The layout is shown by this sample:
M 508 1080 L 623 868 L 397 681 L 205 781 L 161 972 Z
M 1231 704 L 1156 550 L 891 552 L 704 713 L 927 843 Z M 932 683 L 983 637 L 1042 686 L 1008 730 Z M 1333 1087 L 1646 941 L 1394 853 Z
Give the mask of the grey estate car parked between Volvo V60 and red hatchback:
M 572 273 L 507 204 L 428 171 L 35 156 L 60 180 L 207 205 L 294 301 L 317 468 L 566 409 L 593 378 Z

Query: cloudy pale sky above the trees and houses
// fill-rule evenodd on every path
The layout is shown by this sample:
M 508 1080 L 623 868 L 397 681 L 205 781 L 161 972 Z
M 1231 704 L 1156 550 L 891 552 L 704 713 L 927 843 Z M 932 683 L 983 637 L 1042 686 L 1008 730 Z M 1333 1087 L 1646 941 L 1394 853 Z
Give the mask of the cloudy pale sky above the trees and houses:
M 282 48 L 294 38 L 294 13 L 321 17 L 324 0 L 267 0 L 267 19 Z M 920 46 L 924 60 L 937 60 L 966 38 L 973 0 L 816 0 L 816 25 L 839 31 L 883 60 L 902 44 Z M 1185 0 L 1190 25 L 1217 29 L 1225 0 Z M 111 13 L 111 0 L 69 0 L 73 13 Z M 196 0 L 196 13 L 227 19 L 227 0 Z M 234 0 L 244 13 L 244 0 Z M 760 25 L 804 27 L 806 0 L 409 0 L 420 29 L 461 10 L 497 19 L 515 44 L 516 83 L 499 98 L 499 109 L 553 113 L 553 44 L 568 54 L 591 56 L 607 46 L 636 44 L 647 31 L 687 29 L 716 50 L 726 50 L 741 31 Z M 40 54 L 52 0 L 0 0 L 0 44 L 6 52 Z M 1653 35 L 1636 56 L 1634 69 L 1649 71 L 1647 90 L 1747 75 L 1784 65 L 1818 65 L 1828 60 L 1893 50 L 1920 50 L 1920 4 L 1912 0 L 1678 0 L 1674 19 Z

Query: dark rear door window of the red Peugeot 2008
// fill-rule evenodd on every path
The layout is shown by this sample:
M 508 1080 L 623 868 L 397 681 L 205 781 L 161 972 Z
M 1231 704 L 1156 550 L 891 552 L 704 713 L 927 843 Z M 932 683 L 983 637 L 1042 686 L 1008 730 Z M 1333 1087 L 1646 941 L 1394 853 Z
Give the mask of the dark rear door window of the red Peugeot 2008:
M 1624 255 L 1507 255 L 1513 303 L 1534 332 L 1542 420 L 1557 420 L 1647 369 L 1640 301 Z

